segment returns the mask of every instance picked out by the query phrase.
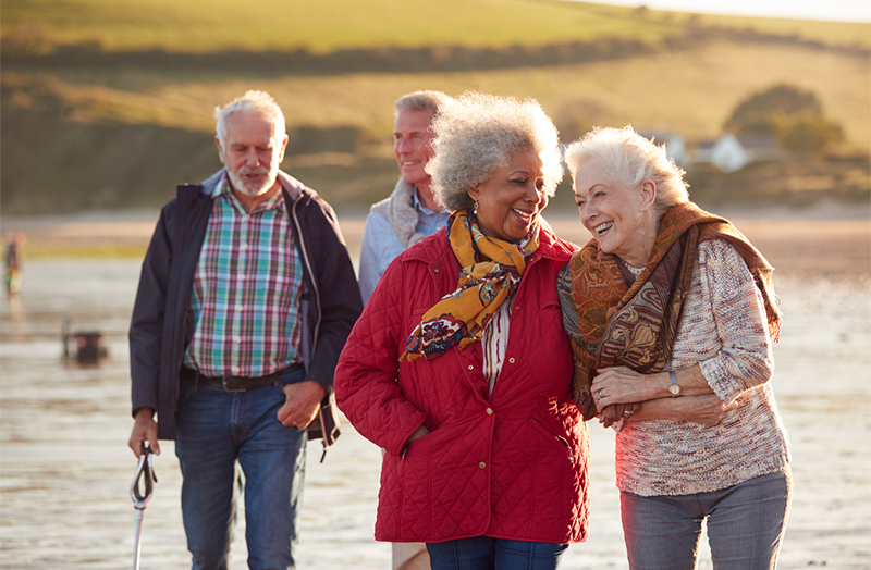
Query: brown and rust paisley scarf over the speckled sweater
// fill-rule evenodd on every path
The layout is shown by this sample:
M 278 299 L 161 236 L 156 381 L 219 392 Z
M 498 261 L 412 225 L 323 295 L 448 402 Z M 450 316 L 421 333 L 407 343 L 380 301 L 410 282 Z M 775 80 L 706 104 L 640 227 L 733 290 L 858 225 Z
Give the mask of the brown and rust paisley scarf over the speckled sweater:
M 586 419 L 597 414 L 590 394 L 597 369 L 625 365 L 652 374 L 665 368 L 698 245 L 709 239 L 724 239 L 741 255 L 765 301 L 769 333 L 777 342 L 781 314 L 773 268 L 727 220 L 692 202 L 674 206 L 663 214 L 650 260 L 631 285 L 617 258 L 602 252 L 596 239 L 572 257 L 561 275 L 563 320 L 575 357 L 575 402 Z

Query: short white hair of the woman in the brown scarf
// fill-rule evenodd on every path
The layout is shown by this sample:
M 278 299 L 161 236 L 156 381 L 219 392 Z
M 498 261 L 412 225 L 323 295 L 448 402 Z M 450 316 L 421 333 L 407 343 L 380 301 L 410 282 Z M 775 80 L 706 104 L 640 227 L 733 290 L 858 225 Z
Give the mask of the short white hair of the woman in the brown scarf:
M 593 128 L 569 145 L 565 162 L 572 178 L 577 177 L 581 166 L 596 163 L 612 181 L 630 188 L 652 181 L 657 185 L 660 212 L 689 201 L 684 169 L 668 158 L 665 148 L 642 137 L 631 126 Z

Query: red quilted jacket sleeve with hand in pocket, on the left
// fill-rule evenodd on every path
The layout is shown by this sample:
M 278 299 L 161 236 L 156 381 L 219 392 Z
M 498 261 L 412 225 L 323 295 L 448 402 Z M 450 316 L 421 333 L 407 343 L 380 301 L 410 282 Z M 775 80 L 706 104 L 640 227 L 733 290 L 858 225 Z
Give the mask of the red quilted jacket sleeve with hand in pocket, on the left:
M 335 370 L 339 408 L 364 437 L 394 455 L 402 454 L 408 437 L 426 420 L 397 383 L 400 349 L 406 340 L 402 338 L 402 292 L 413 288 L 405 283 L 413 273 L 402 265 L 393 263 L 378 283 Z

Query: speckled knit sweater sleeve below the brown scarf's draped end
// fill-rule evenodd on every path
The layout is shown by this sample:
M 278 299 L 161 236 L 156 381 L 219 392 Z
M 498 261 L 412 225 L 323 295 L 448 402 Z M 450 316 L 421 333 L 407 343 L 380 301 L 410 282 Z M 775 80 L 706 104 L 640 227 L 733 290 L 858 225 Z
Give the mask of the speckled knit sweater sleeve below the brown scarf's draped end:
M 721 344 L 699 365 L 714 394 L 728 404 L 769 382 L 774 372 L 765 307 L 747 264 L 727 243 L 701 244 L 697 263 Z

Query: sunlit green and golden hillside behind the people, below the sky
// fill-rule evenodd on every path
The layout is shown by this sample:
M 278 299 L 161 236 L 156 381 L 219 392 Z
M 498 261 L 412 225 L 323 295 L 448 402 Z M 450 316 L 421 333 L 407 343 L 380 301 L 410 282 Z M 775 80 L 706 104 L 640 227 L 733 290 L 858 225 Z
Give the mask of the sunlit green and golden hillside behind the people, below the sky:
M 871 148 L 864 24 L 556 0 L 3 0 L 1 22 L 4 214 L 161 203 L 219 168 L 211 110 L 252 88 L 285 111 L 284 166 L 340 206 L 392 187 L 392 103 L 421 88 L 533 97 L 564 140 L 699 140 L 784 83 L 843 127 L 837 153 Z

